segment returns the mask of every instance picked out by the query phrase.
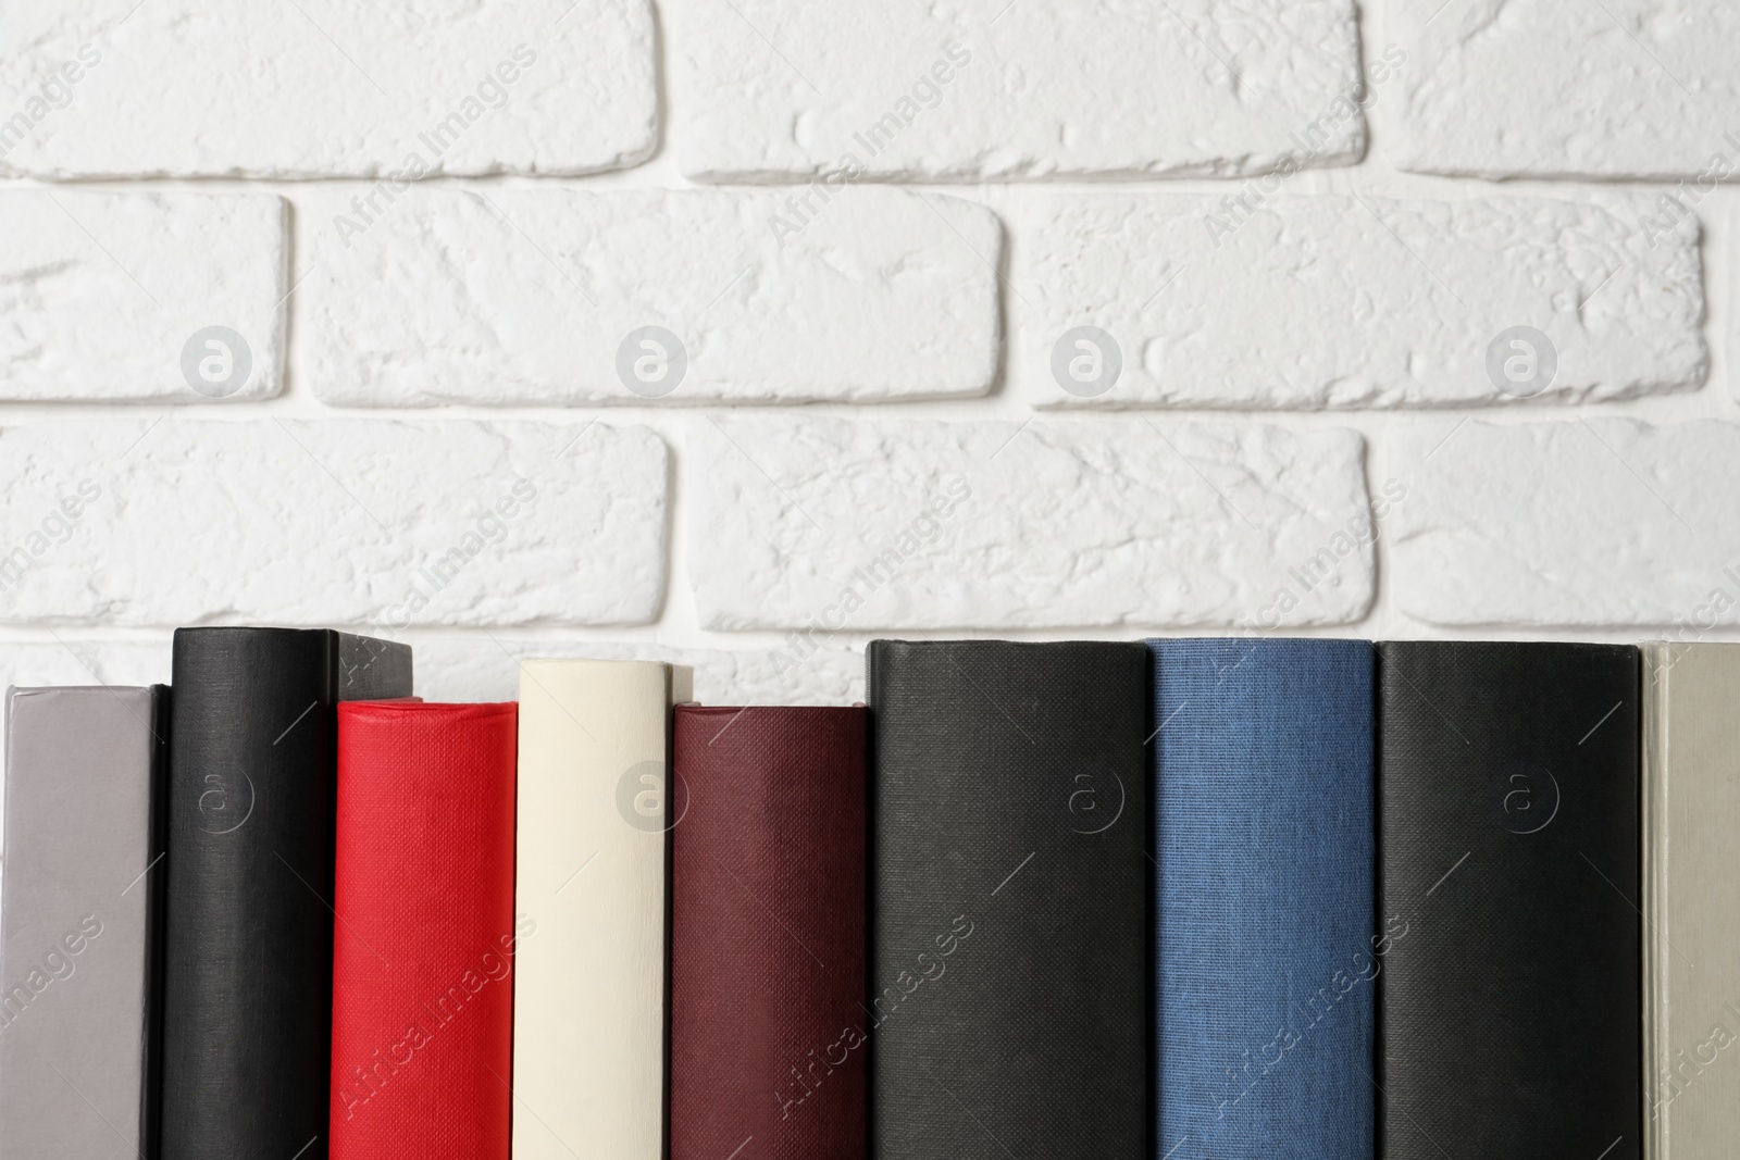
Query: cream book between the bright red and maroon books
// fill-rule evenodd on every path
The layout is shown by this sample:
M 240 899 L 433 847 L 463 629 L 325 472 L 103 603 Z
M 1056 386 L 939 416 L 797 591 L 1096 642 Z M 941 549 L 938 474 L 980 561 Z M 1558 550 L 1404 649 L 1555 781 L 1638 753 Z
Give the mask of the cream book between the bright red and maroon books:
M 515 1160 L 661 1160 L 672 706 L 691 671 L 520 663 Z

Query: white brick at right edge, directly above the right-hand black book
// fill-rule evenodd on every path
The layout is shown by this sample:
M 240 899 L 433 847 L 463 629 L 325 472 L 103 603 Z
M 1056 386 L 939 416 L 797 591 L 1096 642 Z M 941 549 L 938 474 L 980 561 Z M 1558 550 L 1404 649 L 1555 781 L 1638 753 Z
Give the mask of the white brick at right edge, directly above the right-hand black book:
M 1740 423 L 1423 423 L 1392 456 L 1394 597 L 1416 619 L 1735 624 Z

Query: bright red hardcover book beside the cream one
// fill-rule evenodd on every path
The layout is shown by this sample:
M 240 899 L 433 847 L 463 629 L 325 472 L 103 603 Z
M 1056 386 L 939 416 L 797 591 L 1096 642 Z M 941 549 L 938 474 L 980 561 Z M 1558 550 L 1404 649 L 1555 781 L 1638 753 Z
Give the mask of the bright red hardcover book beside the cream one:
M 517 717 L 338 708 L 331 1160 L 508 1157 Z

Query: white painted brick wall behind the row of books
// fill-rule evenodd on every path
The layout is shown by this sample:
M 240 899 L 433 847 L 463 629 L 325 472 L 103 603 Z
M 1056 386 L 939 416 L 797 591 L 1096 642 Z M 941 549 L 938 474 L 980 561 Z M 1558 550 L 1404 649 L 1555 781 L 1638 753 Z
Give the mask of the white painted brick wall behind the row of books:
M 0 678 L 1740 638 L 1728 5 L 129 7 L 0 23 Z

